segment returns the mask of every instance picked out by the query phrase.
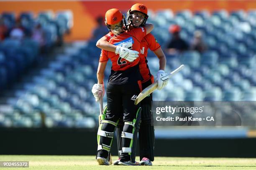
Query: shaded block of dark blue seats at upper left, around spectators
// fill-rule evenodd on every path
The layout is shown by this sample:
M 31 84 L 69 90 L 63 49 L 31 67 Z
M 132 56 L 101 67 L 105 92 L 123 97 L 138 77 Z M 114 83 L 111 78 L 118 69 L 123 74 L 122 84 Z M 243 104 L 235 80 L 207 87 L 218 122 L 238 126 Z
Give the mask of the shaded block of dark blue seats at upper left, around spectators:
M 59 41 L 62 41 L 64 34 L 72 27 L 70 11 L 60 11 L 56 19 L 53 15 L 51 11 L 46 11 L 34 18 L 31 12 L 20 13 L 18 22 L 25 34 L 23 40 L 6 37 L 0 42 L 0 65 L 2 67 L 0 75 L 3 77 L 0 81 L 0 90 L 12 85 L 28 68 L 33 67 L 33 64 L 40 60 L 40 52 L 42 50 L 49 52 Z M 9 30 L 17 24 L 14 13 L 3 13 L 1 17 Z M 45 49 L 40 49 L 39 42 L 30 37 L 38 23 L 41 23 L 44 30 Z

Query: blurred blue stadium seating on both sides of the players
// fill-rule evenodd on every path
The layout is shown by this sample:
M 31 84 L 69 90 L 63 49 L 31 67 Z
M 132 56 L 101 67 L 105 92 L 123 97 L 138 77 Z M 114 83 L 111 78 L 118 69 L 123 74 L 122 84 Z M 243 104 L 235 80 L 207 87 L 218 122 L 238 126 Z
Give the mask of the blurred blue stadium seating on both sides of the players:
M 41 13 L 38 16 L 39 22 L 46 25 L 44 28 L 49 46 L 56 42 L 58 36 L 68 32 L 72 25 L 69 13 L 60 13 L 57 21 L 52 21 L 52 15 Z M 12 14 L 3 16 L 8 20 L 8 26 L 13 24 Z M 22 17 L 31 20 L 29 13 L 22 14 Z M 164 90 L 154 92 L 154 100 L 255 101 L 255 18 L 256 11 L 234 11 L 230 14 L 225 10 L 212 14 L 198 11 L 194 15 L 189 10 L 176 15 L 172 10 L 157 13 L 150 11 L 148 23 L 155 24 L 152 33 L 162 47 L 169 40 L 168 28 L 172 24 L 182 27 L 181 35 L 187 42 L 192 40 L 195 30 L 200 30 L 208 45 L 208 50 L 202 54 L 187 51 L 177 56 L 166 55 L 166 71 L 172 71 L 180 64 L 185 67 L 169 81 Z M 91 87 L 97 82 L 100 55 L 95 43 L 95 40 L 84 44 L 74 43 L 41 70 L 33 81 L 16 91 L 15 96 L 0 106 L 0 126 L 95 127 L 98 104 L 91 94 Z M 9 46 L 19 52 L 9 51 Z M 3 78 L 0 79 L 0 88 L 13 82 L 20 72 L 36 60 L 36 44 L 27 40 L 21 46 L 12 40 L 1 43 L 0 76 Z M 152 74 L 157 72 L 158 63 L 158 58 L 148 52 L 148 65 Z M 110 69 L 111 64 L 108 63 L 105 82 L 108 81 Z

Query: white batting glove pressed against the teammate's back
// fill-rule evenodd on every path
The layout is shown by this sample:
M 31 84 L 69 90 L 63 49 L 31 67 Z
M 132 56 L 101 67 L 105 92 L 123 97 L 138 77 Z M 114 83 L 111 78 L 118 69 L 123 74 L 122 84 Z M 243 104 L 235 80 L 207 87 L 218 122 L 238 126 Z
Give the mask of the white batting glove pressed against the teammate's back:
M 117 46 L 115 49 L 115 54 L 119 54 L 121 58 L 129 62 L 133 62 L 138 57 L 139 52 L 135 50 L 129 50 L 126 47 Z

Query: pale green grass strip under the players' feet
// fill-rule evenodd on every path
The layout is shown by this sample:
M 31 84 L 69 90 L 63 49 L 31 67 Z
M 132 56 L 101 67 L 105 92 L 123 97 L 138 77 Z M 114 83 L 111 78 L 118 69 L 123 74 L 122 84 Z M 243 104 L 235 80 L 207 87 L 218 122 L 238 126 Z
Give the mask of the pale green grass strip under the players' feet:
M 136 157 L 137 159 L 139 157 Z M 113 156 L 113 160 L 117 157 Z M 0 155 L 0 161 L 29 161 L 30 170 L 255 170 L 255 158 L 156 157 L 154 166 L 100 166 L 95 156 Z M 17 168 L 0 168 L 17 170 Z

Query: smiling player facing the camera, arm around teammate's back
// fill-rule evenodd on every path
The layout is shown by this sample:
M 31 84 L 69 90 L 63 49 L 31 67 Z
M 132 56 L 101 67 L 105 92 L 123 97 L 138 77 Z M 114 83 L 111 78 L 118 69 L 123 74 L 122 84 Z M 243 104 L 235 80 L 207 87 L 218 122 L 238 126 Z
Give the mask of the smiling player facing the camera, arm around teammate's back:
M 146 24 L 148 19 L 147 8 L 143 4 L 134 4 L 127 13 L 128 30 L 141 27 Z M 111 33 L 110 33 L 111 34 Z M 97 42 L 97 47 L 106 49 L 110 45 L 104 37 Z M 168 83 L 168 74 L 164 72 L 166 66 L 166 57 L 164 55 L 161 46 L 150 33 L 146 35 L 141 42 L 141 55 L 139 61 L 140 73 L 143 77 L 142 89 L 148 87 L 154 83 L 154 76 L 151 75 L 147 64 L 147 51 L 148 48 L 155 53 L 159 58 L 159 71 L 157 72 L 158 90 L 161 90 Z M 107 50 L 107 49 L 106 49 Z M 151 161 L 154 161 L 154 126 L 151 125 L 151 102 L 152 94 L 141 101 L 141 126 L 139 130 L 139 145 L 140 145 L 140 160 L 141 165 L 152 165 Z M 121 129 L 122 123 L 119 122 L 117 127 L 118 132 L 118 155 L 122 153 L 122 142 L 121 142 Z M 114 162 L 114 165 L 118 165 L 120 158 Z

